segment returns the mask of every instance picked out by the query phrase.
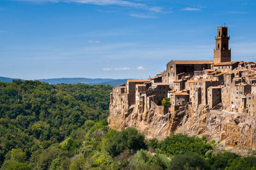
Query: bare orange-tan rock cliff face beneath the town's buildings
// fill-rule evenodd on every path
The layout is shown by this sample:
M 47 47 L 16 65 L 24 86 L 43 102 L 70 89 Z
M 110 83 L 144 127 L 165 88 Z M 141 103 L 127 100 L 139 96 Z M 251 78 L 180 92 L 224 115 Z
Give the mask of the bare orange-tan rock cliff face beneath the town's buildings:
M 200 105 L 197 109 L 186 105 L 173 113 L 162 114 L 157 105 L 139 113 L 135 105 L 127 111 L 110 105 L 108 123 L 110 128 L 122 130 L 136 127 L 147 139 L 163 140 L 172 133 L 205 135 L 208 139 L 225 141 L 225 146 L 252 148 L 256 150 L 255 118 L 221 110 L 210 110 Z

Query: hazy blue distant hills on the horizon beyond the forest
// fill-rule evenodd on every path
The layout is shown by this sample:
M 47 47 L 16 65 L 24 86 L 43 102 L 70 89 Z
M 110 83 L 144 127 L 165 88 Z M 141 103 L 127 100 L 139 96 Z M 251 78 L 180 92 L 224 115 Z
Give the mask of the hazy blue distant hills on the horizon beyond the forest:
M 0 77 L 0 82 L 12 82 L 13 78 Z M 127 79 L 87 79 L 87 78 L 56 78 L 56 79 L 38 79 L 38 81 L 48 82 L 49 84 L 77 84 L 84 83 L 89 85 L 94 84 L 109 84 L 111 86 L 118 86 L 123 82 L 126 83 Z

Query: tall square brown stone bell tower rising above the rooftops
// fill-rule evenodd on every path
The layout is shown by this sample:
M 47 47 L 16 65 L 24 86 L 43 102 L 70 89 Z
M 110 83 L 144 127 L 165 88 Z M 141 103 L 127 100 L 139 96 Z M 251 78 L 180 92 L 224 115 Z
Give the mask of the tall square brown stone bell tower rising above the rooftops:
M 213 63 L 231 61 L 231 49 L 228 49 L 228 27 L 218 27 L 216 40 L 216 49 L 214 49 Z

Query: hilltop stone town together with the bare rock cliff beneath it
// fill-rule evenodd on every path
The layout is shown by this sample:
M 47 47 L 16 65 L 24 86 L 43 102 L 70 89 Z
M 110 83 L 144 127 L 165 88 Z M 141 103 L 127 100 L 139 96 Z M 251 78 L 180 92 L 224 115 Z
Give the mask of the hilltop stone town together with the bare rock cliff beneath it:
M 137 127 L 159 139 L 205 133 L 226 146 L 256 148 L 256 63 L 231 60 L 228 27 L 218 27 L 215 40 L 212 61 L 172 60 L 156 77 L 113 88 L 109 127 Z

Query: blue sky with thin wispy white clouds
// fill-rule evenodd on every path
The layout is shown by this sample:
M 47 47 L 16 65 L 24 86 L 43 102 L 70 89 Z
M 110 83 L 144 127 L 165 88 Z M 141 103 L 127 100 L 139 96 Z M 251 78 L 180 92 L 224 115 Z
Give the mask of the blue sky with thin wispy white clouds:
M 173 60 L 256 56 L 256 1 L 0 0 L 0 77 L 145 79 Z

